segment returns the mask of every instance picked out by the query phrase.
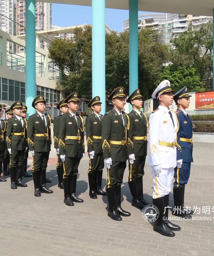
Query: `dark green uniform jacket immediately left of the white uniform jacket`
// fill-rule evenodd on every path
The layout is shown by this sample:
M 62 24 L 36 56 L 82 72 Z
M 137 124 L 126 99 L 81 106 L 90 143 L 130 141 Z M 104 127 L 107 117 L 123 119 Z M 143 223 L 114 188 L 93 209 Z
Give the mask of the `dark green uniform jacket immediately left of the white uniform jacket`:
M 148 121 L 144 113 L 139 114 L 132 110 L 129 113 L 129 134 L 128 134 L 128 154 L 143 156 L 147 154 L 147 140 L 135 140 L 133 137 L 145 137 L 148 133 Z

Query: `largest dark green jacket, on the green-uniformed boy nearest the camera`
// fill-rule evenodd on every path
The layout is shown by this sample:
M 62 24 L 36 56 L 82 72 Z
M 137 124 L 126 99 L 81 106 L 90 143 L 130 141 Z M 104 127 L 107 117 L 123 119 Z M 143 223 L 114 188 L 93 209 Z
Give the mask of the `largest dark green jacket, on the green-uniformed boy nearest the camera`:
M 102 150 L 103 157 L 111 158 L 115 162 L 125 162 L 128 159 L 127 153 L 127 138 L 129 130 L 129 117 L 125 112 L 121 112 L 124 119 L 119 117 L 117 111 L 112 108 L 107 112 L 102 120 Z M 125 145 L 114 145 L 109 141 L 122 141 L 125 140 Z

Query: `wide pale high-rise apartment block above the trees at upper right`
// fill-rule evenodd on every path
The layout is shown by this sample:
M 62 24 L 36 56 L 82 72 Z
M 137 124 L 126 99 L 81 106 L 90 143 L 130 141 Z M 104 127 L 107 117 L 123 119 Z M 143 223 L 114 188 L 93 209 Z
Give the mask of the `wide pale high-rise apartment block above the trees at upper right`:
M 181 14 L 143 14 L 138 16 L 138 29 L 153 28 L 161 33 L 162 42 L 170 44 L 170 39 L 177 37 L 188 28 L 197 29 L 212 17 Z M 129 29 L 129 19 L 123 21 L 123 31 Z

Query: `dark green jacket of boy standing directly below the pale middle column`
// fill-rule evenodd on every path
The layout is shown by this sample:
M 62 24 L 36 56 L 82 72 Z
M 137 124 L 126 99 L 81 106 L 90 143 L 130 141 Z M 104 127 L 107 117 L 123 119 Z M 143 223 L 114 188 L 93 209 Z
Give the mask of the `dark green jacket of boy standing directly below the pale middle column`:
M 101 115 L 101 120 L 103 116 Z M 85 121 L 86 128 L 86 139 L 88 152 L 94 151 L 95 154 L 102 154 L 102 141 L 101 139 L 92 138 L 92 136 L 101 137 L 102 133 L 102 122 L 95 113 L 90 114 L 86 117 Z

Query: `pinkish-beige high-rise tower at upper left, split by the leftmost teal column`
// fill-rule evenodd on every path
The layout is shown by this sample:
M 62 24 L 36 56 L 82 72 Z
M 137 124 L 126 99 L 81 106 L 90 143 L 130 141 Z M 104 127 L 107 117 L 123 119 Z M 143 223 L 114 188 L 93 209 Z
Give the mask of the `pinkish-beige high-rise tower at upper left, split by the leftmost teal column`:
M 15 4 L 16 35 L 25 34 L 25 1 L 16 0 Z M 51 3 L 36 2 L 36 31 L 49 30 L 52 24 Z M 45 42 L 41 40 L 41 48 L 45 47 Z M 16 52 L 24 52 L 21 46 L 16 47 Z

